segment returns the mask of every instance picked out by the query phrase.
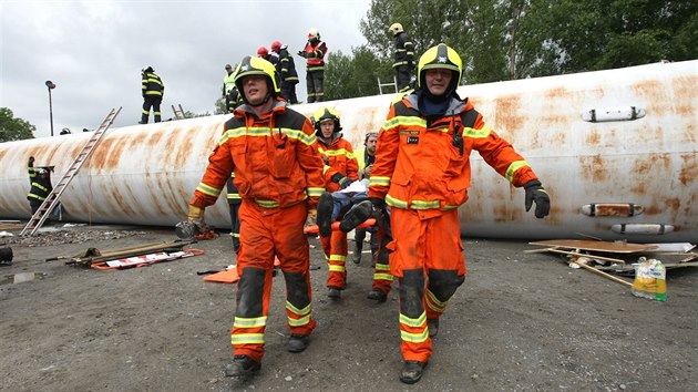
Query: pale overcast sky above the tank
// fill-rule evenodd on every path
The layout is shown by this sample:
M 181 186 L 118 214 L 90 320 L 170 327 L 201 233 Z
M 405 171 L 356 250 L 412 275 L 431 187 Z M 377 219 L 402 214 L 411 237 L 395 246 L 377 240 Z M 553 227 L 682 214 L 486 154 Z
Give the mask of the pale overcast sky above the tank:
M 366 39 L 359 22 L 370 0 L 284 1 L 31 1 L 0 0 L 0 107 L 37 126 L 35 137 L 95 128 L 123 106 L 113 127 L 141 117 L 141 69 L 153 66 L 165 83 L 161 112 L 171 105 L 195 113 L 215 110 L 225 75 L 257 48 L 278 40 L 296 53 L 311 27 L 330 53 L 348 54 Z M 295 56 L 306 100 L 305 60 Z M 151 114 L 150 121 L 153 122 Z

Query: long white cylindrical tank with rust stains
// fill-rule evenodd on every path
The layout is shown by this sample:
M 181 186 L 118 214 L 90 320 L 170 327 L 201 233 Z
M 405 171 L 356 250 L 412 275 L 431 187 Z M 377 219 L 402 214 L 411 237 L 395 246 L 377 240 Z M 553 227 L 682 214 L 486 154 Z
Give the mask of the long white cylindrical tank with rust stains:
M 551 215 L 524 210 L 512 187 L 473 152 L 462 234 L 484 238 L 578 238 L 698 243 L 698 61 L 465 85 L 485 123 L 512 143 L 552 198 Z M 337 109 L 355 148 L 378 131 L 396 94 L 292 109 Z M 229 115 L 107 131 L 61 202 L 72 220 L 171 226 Z M 90 134 L 0 144 L 0 218 L 30 217 L 27 159 L 60 179 Z M 379 146 L 380 147 L 380 146 Z M 206 221 L 229 227 L 225 195 Z M 618 226 L 625 225 L 625 226 Z M 616 227 L 616 230 L 613 228 Z M 671 230 L 617 230 L 671 227 Z

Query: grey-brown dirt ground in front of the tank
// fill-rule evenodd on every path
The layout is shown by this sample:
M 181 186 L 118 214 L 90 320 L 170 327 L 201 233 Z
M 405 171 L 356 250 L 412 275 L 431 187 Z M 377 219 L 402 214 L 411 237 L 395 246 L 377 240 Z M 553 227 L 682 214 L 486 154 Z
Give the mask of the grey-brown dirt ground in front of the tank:
M 232 359 L 235 286 L 196 275 L 235 262 L 227 234 L 194 245 L 203 256 L 100 271 L 44 260 L 90 247 L 173 240 L 174 231 L 62 230 L 37 237 L 49 239 L 43 243 L 11 239 L 14 264 L 0 267 L 2 391 L 695 391 L 698 385 L 696 268 L 669 271 L 669 299 L 657 302 L 572 269 L 562 256 L 524 254 L 534 248 L 526 241 L 464 239 L 469 276 L 441 319 L 423 379 L 410 386 L 398 380 L 394 287 L 384 303 L 366 299 L 372 269 L 365 254 L 360 265 L 348 261 L 341 300 L 328 300 L 327 265 L 319 241 L 310 239 L 318 320 L 310 347 L 286 351 L 285 285 L 277 276 L 263 369 L 254 379 L 237 380 L 223 372 Z M 37 279 L 14 283 L 21 272 Z

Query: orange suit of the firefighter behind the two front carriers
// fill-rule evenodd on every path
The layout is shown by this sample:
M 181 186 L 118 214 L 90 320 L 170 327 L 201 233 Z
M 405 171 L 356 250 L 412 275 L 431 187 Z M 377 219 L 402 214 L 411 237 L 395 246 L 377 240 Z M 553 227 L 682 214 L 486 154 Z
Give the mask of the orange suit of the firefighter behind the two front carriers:
M 359 162 L 353 155 L 351 143 L 335 134 L 332 142 L 328 145 L 318 142 L 320 154 L 325 165 L 325 180 L 327 192 L 339 190 L 337 183 L 332 182 L 332 176 L 341 174 L 353 180 L 359 178 Z M 329 267 L 327 276 L 327 287 L 343 289 L 347 285 L 347 234 L 340 230 L 332 231 L 330 237 L 320 237 L 320 244 L 325 251 L 325 258 Z

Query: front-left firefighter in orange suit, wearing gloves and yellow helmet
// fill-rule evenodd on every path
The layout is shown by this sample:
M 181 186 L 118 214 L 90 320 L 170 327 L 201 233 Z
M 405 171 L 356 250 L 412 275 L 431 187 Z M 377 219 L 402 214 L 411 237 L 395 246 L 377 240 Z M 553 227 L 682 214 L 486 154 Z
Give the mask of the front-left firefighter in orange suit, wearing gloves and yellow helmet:
M 307 348 L 316 322 L 309 246 L 302 229 L 316 216 L 318 197 L 325 190 L 312 124 L 278 97 L 280 83 L 274 64 L 246 56 L 236 73 L 235 85 L 244 104 L 225 123 L 188 214 L 191 223 L 203 224 L 204 208 L 216 202 L 235 172 L 243 200 L 237 256 L 240 280 L 228 376 L 253 374 L 261 368 L 275 257 L 286 280 L 287 349 L 300 352 Z

